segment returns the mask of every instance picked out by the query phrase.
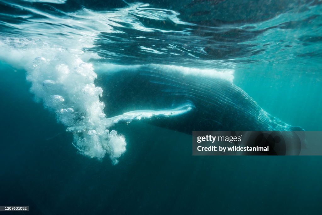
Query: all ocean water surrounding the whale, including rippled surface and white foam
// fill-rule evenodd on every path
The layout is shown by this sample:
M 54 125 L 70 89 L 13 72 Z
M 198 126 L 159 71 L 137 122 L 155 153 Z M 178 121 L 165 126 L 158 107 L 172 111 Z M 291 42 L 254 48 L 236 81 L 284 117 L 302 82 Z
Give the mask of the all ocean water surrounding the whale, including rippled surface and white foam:
M 147 67 L 225 79 L 321 131 L 321 15 L 318 0 L 1 0 L 0 205 L 319 214 L 320 156 L 192 156 L 188 134 L 114 124 L 100 78 Z

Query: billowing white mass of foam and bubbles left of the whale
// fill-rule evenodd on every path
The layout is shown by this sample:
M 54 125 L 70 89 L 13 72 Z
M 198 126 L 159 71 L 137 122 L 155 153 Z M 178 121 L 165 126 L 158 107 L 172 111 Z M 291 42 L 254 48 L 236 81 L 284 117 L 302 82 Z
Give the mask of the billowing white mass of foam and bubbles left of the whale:
M 56 113 L 57 121 L 73 133 L 74 145 L 82 154 L 102 159 L 109 154 L 113 163 L 126 150 L 126 141 L 103 112 L 99 101 L 102 89 L 95 86 L 92 64 L 86 63 L 94 54 L 79 49 L 63 49 L 18 38 L 3 38 L 0 60 L 27 71 L 32 83 L 30 91 L 36 101 Z

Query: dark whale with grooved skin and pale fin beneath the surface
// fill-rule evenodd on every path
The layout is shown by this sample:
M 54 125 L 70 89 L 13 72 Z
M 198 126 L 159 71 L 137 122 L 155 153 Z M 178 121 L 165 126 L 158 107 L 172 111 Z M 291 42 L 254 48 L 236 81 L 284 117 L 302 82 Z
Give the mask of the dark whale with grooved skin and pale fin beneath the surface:
M 98 73 L 104 112 L 115 124 L 134 121 L 193 131 L 304 131 L 263 110 L 225 78 L 153 67 Z

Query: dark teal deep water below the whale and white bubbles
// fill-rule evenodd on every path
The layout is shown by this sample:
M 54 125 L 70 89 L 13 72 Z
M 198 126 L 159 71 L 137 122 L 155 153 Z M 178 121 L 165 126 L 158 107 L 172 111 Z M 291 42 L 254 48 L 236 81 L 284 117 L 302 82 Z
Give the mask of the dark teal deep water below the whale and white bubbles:
M 113 166 L 77 153 L 24 71 L 1 70 L 0 202 L 30 206 L 14 214 L 321 211 L 320 156 L 192 156 L 191 136 L 137 123 L 118 128 L 128 145 Z

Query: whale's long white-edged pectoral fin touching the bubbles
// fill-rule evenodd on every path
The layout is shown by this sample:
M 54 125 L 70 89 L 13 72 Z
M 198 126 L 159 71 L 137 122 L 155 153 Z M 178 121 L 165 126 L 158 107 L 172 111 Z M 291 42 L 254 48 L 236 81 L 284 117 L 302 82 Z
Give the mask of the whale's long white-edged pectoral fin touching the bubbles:
M 162 120 L 166 118 L 172 118 L 182 116 L 195 111 L 195 106 L 192 103 L 184 103 L 180 105 L 173 105 L 170 108 L 158 109 L 158 110 L 137 110 L 123 113 L 118 116 L 109 118 L 114 123 L 129 123 L 132 121 L 151 121 Z

